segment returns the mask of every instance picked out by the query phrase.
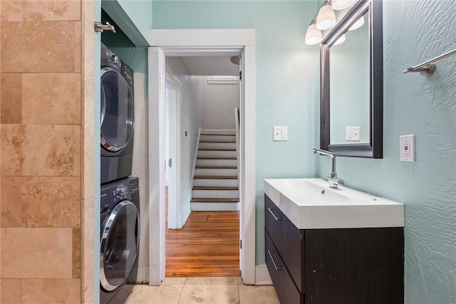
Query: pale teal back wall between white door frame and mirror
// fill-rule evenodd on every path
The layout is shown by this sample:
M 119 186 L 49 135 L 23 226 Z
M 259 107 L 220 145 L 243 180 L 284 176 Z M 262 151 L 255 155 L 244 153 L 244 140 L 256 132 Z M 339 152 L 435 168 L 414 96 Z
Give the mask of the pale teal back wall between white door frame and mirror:
M 304 44 L 314 1 L 154 1 L 154 29 L 256 29 L 257 244 L 264 265 L 264 178 L 312 177 L 318 146 L 318 46 Z M 289 141 L 272 141 L 288 126 Z

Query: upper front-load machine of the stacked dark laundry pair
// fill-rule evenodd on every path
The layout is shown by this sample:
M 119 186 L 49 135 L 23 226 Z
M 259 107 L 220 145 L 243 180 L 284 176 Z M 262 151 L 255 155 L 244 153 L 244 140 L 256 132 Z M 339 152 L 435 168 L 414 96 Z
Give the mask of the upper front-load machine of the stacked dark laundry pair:
M 135 126 L 133 69 L 101 44 L 100 183 L 131 175 Z

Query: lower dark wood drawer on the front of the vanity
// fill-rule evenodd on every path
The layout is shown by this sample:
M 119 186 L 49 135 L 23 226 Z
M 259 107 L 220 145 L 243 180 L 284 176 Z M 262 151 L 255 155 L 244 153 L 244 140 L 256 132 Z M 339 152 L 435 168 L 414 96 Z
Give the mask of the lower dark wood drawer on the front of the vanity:
M 271 275 L 272 283 L 279 298 L 280 303 L 301 303 L 304 304 L 304 295 L 294 285 L 293 279 L 284 265 L 279 253 L 272 243 L 267 231 L 265 235 L 266 266 Z

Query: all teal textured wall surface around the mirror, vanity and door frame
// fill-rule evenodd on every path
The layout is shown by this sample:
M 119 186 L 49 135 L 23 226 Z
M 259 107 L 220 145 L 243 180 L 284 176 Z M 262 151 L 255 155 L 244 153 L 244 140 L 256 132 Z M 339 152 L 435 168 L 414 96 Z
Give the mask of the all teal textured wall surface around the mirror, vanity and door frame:
M 264 263 L 263 179 L 331 170 L 329 158 L 311 153 L 319 59 L 304 35 L 316 10 L 316 1 L 152 1 L 153 29 L 256 29 L 257 265 Z M 405 203 L 406 303 L 456 303 L 455 56 L 429 77 L 402 73 L 455 48 L 455 16 L 455 1 L 384 1 L 384 157 L 338 158 L 347 186 Z M 289 141 L 273 142 L 272 126 L 289 126 Z M 402 163 L 399 136 L 410 133 L 416 162 Z

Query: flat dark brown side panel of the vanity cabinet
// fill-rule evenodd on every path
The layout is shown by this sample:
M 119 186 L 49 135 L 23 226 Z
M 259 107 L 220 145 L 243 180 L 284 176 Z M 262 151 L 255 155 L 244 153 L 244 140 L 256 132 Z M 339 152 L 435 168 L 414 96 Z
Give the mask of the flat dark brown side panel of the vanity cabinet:
M 403 228 L 306 230 L 306 304 L 404 303 L 403 248 Z

